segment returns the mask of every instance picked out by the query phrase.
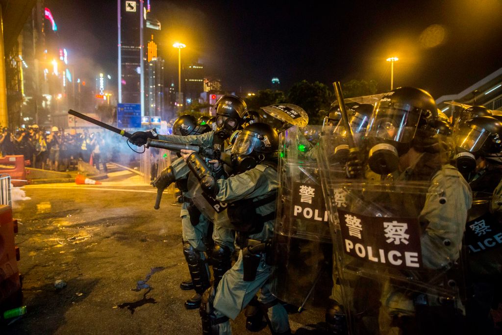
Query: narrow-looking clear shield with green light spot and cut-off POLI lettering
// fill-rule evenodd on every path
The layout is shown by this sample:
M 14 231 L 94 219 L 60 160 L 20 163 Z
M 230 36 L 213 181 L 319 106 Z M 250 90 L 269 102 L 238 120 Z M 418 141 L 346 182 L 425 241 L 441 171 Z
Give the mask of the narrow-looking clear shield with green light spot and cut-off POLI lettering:
M 281 134 L 273 293 L 298 307 L 324 307 L 332 287 L 330 213 L 316 159 L 319 136 L 322 126 L 292 127 Z

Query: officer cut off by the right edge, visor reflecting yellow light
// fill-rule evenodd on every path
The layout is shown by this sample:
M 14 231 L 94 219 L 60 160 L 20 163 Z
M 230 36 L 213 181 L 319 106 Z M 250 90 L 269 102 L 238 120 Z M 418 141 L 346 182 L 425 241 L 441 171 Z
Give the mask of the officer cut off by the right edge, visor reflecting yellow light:
M 497 305 L 502 280 L 502 161 L 490 159 L 502 149 L 502 123 L 495 118 L 474 118 L 455 132 L 456 161 L 469 182 L 473 205 L 465 227 L 468 251 L 468 278 L 471 290 L 467 300 L 469 331 L 493 334 L 490 307 Z M 460 154 L 464 155 L 460 155 Z M 497 294 L 498 291 L 498 294 Z

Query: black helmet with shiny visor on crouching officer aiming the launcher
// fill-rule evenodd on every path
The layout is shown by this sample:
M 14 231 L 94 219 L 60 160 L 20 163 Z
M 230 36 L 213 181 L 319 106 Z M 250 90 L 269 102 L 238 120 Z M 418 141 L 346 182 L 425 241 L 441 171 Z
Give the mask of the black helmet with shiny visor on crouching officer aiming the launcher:
M 261 161 L 276 159 L 279 135 L 271 126 L 254 123 L 239 132 L 232 147 L 232 164 L 238 173 L 254 168 Z

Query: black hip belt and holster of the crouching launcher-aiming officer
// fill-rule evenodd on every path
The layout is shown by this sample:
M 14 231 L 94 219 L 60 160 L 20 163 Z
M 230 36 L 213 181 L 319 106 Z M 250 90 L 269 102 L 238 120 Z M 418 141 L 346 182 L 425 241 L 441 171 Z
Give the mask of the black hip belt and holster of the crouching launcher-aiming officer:
M 239 243 L 239 239 L 240 235 L 237 237 L 237 243 Z M 240 243 L 242 243 L 239 246 L 242 249 L 243 280 L 254 281 L 262 258 L 265 258 L 267 265 L 272 265 L 272 241 L 261 241 L 244 237 Z

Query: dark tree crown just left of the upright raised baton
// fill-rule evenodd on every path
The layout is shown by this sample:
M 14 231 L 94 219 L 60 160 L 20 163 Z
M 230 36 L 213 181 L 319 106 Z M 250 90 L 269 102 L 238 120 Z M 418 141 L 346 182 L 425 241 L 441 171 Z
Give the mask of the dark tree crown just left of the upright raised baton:
M 302 80 L 295 83 L 288 91 L 286 102 L 296 104 L 307 112 L 310 125 L 320 125 L 326 113 L 319 110 L 329 109 L 333 94 L 331 89 L 318 81 L 310 83 Z

